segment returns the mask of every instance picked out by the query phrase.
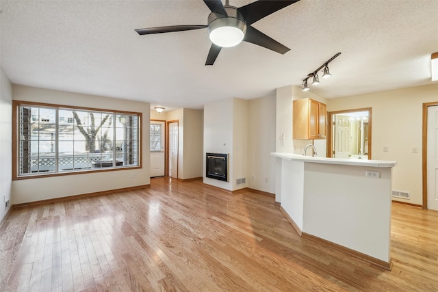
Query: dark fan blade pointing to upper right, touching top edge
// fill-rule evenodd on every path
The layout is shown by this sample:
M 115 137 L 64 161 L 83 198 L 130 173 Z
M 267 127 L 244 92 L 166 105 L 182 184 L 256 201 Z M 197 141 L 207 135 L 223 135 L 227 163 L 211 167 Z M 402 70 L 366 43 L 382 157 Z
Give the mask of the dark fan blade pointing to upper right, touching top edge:
M 241 8 L 237 8 L 244 16 L 246 25 L 252 25 L 261 18 L 268 16 L 278 10 L 281 10 L 300 0 L 264 0 L 256 1 Z

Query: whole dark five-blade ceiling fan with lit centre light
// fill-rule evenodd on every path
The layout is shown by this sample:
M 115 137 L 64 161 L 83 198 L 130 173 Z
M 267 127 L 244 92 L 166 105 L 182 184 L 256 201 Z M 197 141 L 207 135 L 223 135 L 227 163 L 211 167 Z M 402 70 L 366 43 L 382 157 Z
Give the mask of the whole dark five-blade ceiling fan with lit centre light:
M 229 5 L 229 0 L 226 0 L 225 5 L 222 4 L 221 0 L 203 1 L 211 10 L 207 18 L 208 25 L 172 25 L 136 29 L 136 31 L 138 34 L 144 35 L 207 28 L 213 44 L 211 44 L 205 65 L 214 64 L 222 47 L 234 47 L 242 40 L 281 54 L 290 50 L 251 25 L 300 0 L 259 0 L 240 8 Z

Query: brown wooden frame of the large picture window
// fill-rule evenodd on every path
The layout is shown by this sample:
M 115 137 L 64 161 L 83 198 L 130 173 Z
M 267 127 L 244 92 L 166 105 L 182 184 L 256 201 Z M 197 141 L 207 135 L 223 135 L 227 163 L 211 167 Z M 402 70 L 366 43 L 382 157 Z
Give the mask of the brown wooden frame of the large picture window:
M 129 114 L 133 116 L 137 116 L 138 118 L 138 165 L 123 165 L 123 166 L 116 166 L 113 165 L 112 167 L 108 168 L 89 168 L 86 170 L 70 170 L 65 172 L 40 172 L 40 173 L 33 173 L 33 174 L 18 174 L 18 165 L 20 163 L 20 157 L 19 157 L 19 147 L 20 147 L 20 141 L 19 141 L 19 133 L 20 131 L 20 119 L 19 119 L 19 110 L 21 106 L 35 106 L 35 107 L 53 107 L 56 109 L 56 113 L 59 110 L 62 109 L 75 109 L 75 110 L 86 110 L 86 111 L 102 111 L 102 112 L 109 112 L 111 114 Z M 52 103 L 36 103 L 31 101 L 12 101 L 12 181 L 18 181 L 21 179 L 29 179 L 29 178 L 47 178 L 47 177 L 53 177 L 53 176 L 66 176 L 66 175 L 74 175 L 74 174 L 87 174 L 87 173 L 95 173 L 95 172 L 112 172 L 112 171 L 119 171 L 119 170 L 132 170 L 132 169 L 139 169 L 142 168 L 142 157 L 143 157 L 143 151 L 142 151 L 142 113 L 141 112 L 134 112 L 134 111 L 120 111 L 120 110 L 113 110 L 113 109 L 98 109 L 98 108 L 92 108 L 92 107 L 74 107 L 71 105 L 57 105 Z M 56 120 L 56 125 L 59 127 L 59 120 Z M 56 157 L 58 157 L 58 149 L 56 150 Z

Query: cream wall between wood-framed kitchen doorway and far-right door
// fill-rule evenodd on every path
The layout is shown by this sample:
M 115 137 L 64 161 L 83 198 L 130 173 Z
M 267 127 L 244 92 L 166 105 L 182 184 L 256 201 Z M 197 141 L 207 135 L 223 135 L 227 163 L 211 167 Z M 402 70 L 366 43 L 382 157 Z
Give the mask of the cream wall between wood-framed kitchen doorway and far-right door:
M 392 187 L 411 192 L 411 200 L 399 200 L 422 204 L 422 105 L 437 101 L 438 83 L 434 83 L 330 99 L 327 110 L 372 107 L 371 158 L 397 161 Z M 383 152 L 384 146 L 388 152 Z M 418 148 L 418 153 L 412 148 Z

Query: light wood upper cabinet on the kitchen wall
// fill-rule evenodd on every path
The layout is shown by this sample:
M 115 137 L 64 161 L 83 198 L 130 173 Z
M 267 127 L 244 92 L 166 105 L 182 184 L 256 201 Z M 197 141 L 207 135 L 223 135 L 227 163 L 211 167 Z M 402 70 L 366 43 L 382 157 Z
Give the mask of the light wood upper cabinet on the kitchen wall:
M 293 138 L 325 139 L 327 107 L 310 98 L 294 101 Z

